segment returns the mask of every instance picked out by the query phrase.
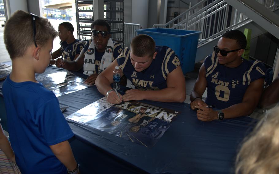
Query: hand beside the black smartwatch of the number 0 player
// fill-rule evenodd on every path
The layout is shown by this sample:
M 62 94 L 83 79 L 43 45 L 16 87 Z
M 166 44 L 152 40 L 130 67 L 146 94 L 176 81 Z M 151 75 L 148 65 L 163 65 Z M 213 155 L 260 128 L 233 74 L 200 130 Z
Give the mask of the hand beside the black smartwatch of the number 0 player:
M 211 107 L 214 107 L 212 105 Z M 212 121 L 218 119 L 218 111 L 214 111 L 212 108 L 209 108 L 206 104 L 201 104 L 198 102 L 196 106 L 197 110 L 197 119 L 201 121 Z

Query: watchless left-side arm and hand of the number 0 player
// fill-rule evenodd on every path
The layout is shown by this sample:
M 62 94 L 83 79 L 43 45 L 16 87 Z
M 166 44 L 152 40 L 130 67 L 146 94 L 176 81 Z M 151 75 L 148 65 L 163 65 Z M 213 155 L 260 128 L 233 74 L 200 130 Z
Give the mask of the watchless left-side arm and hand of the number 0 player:
M 205 67 L 204 67 L 204 64 L 201 65 L 201 68 L 199 70 L 199 75 L 198 75 L 198 78 L 195 82 L 195 85 L 194 85 L 194 88 L 193 88 L 193 91 L 191 93 L 191 109 L 195 109 L 195 106 L 198 105 L 198 102 L 203 104 L 203 105 L 206 105 L 204 103 L 204 101 L 202 100 L 202 95 L 206 89 L 206 86 L 207 86 L 207 82 L 206 82 L 206 78 L 205 78 Z

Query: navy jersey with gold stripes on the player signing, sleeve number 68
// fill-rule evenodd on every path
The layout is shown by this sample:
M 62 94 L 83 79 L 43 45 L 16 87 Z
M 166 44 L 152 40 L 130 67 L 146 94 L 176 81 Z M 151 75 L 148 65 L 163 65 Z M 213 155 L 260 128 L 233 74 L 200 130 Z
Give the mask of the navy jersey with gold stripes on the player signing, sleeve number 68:
M 121 55 L 117 58 L 119 68 L 137 89 L 164 89 L 166 77 L 175 68 L 180 65 L 177 55 L 172 49 L 166 46 L 156 47 L 157 55 L 152 60 L 150 66 L 137 72 L 130 59 L 130 48 L 126 47 Z

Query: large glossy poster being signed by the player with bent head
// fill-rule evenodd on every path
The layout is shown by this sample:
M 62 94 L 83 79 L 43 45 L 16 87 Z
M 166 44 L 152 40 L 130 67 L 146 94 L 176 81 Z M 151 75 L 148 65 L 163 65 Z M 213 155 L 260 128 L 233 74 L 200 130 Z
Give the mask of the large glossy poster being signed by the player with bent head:
M 178 112 L 141 102 L 109 104 L 106 97 L 67 116 L 68 119 L 152 147 Z

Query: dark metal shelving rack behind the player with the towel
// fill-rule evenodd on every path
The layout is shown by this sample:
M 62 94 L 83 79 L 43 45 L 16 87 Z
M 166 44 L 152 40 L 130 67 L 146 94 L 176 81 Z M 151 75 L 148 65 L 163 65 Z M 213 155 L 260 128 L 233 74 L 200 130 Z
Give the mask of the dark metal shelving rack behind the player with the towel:
M 97 1 L 97 0 L 95 0 Z M 104 0 L 104 16 L 102 19 L 107 21 L 111 26 L 111 38 L 121 44 L 124 42 L 124 0 Z M 89 40 L 91 38 L 90 26 L 94 22 L 94 1 L 76 0 L 76 18 L 78 39 Z M 101 17 L 99 17 L 101 19 Z

